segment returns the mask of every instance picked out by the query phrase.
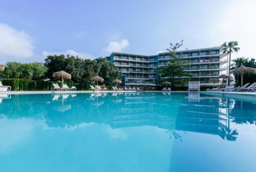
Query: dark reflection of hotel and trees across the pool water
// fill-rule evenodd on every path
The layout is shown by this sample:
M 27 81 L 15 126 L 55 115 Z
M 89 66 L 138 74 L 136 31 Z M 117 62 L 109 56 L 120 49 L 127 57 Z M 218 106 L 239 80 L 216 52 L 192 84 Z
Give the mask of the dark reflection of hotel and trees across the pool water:
M 218 135 L 235 141 L 230 123 L 255 124 L 256 107 L 249 102 L 202 96 L 198 93 L 92 93 L 2 96 L 6 118 L 44 119 L 49 127 L 82 123 L 109 124 L 112 128 L 156 126 L 169 137 L 177 131 Z M 9 98 L 9 99 L 7 99 Z M 11 98 L 11 99 L 10 99 Z M 248 107 L 250 110 L 248 111 Z M 247 114 L 243 109 L 246 108 Z

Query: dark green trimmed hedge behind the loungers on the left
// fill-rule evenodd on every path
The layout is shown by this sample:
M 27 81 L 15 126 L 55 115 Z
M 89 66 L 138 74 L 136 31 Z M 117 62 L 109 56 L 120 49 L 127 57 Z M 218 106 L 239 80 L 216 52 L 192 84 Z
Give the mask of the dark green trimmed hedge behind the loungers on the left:
M 28 79 L 0 79 L 3 85 L 9 85 L 12 87 L 13 91 L 49 91 L 53 88 L 52 81 L 34 81 Z M 65 82 L 71 88 L 72 86 L 76 87 L 77 90 L 89 90 L 89 84 L 83 83 L 70 83 Z M 58 83 L 59 87 L 62 87 L 62 83 Z

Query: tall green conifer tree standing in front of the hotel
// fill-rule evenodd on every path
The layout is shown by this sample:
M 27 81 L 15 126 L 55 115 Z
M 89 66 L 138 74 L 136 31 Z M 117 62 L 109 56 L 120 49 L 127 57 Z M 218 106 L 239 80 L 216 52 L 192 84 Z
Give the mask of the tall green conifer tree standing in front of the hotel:
M 177 54 L 177 50 L 183 46 L 183 40 L 180 43 L 172 44 L 167 50 L 171 59 L 169 64 L 163 67 L 158 67 L 159 77 L 165 77 L 170 82 L 171 86 L 185 84 L 182 76 L 190 76 L 184 71 L 184 68 L 188 66 L 188 61 L 182 60 L 182 54 Z

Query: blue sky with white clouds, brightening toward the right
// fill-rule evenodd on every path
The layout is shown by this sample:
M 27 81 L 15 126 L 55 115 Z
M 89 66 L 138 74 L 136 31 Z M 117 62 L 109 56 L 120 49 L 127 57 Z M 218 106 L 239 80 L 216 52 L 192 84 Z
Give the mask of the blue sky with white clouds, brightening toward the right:
M 0 0 L 0 63 L 44 62 L 48 55 L 94 59 L 124 52 L 154 55 L 237 40 L 232 58 L 255 58 L 256 1 Z

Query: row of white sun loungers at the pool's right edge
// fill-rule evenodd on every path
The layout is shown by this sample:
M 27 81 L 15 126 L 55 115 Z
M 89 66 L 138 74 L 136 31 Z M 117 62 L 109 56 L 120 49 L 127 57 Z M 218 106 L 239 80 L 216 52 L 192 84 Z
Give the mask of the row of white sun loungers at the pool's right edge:
M 214 89 L 207 89 L 206 91 L 224 91 L 224 92 L 256 92 L 256 82 L 250 84 L 246 83 L 243 87 L 234 87 L 234 85 L 229 85 L 225 88 L 217 87 Z

